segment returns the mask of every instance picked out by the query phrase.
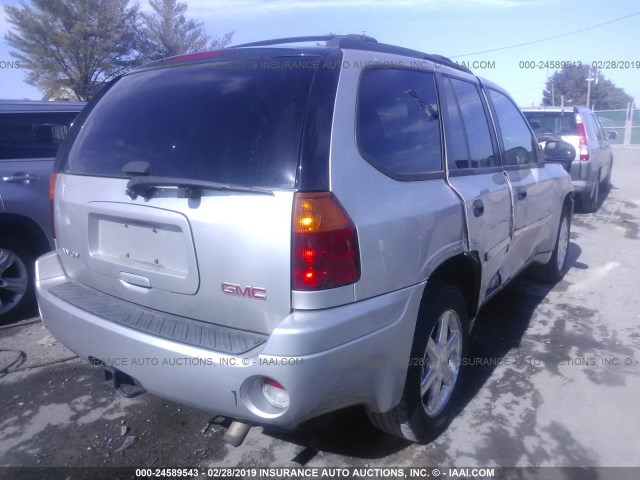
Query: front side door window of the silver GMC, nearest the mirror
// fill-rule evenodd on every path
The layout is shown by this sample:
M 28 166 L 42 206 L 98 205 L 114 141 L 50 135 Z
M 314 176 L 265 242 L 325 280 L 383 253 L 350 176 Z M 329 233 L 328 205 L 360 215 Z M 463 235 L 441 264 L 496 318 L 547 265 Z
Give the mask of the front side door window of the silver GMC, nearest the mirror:
M 537 164 L 537 142 L 520 110 L 503 94 L 495 90 L 489 92 L 502 136 L 505 165 Z

